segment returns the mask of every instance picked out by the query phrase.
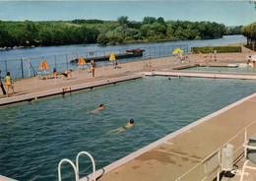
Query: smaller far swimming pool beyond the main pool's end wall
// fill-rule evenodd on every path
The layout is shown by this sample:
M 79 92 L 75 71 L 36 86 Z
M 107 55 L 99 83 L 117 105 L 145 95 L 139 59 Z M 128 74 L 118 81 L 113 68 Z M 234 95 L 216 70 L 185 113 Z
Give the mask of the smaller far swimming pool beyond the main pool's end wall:
M 239 65 L 239 64 L 238 64 Z M 183 71 L 211 71 L 211 72 L 235 72 L 235 73 L 256 73 L 252 66 L 246 67 L 246 64 L 240 64 L 239 67 L 192 67 L 183 69 Z

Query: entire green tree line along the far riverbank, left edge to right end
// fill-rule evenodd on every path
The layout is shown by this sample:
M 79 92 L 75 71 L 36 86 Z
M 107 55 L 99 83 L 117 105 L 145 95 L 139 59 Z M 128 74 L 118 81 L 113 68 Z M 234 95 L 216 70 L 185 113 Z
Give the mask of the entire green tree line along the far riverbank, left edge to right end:
M 223 24 L 164 21 L 161 17 L 145 17 L 142 22 L 129 21 L 125 16 L 117 21 L 0 21 L 0 47 L 85 43 L 114 45 L 220 38 L 224 33 L 226 28 Z

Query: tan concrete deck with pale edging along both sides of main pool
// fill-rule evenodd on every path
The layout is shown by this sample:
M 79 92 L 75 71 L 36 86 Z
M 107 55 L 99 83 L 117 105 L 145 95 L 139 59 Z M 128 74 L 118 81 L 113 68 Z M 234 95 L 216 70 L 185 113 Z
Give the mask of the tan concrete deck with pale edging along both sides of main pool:
M 236 56 L 236 54 L 232 55 Z M 230 57 L 230 55 L 226 56 Z M 239 56 L 241 55 L 239 54 Z M 218 63 L 223 65 L 225 61 Z M 180 63 L 176 57 L 162 57 L 152 60 L 123 63 L 120 64 L 121 69 L 113 69 L 112 66 L 98 67 L 96 68 L 96 78 L 90 77 L 91 74 L 88 73 L 88 70 L 82 70 L 74 73 L 73 78 L 75 79 L 73 80 L 62 80 L 62 78 L 18 80 L 15 82 L 17 95 L 11 95 L 10 97 L 1 96 L 0 104 L 12 103 L 22 96 L 25 97 L 24 99 L 31 99 L 34 97 L 61 94 L 63 89 L 65 93 L 69 93 L 70 88 L 71 91 L 77 91 L 90 89 L 99 85 L 103 86 L 126 80 L 139 79 L 142 77 L 142 72 L 156 73 L 164 71 L 177 73 L 178 71 L 165 71 L 165 69 L 171 70 L 174 67 L 184 64 L 189 65 L 194 64 L 194 62 Z M 198 74 L 205 73 L 201 72 Z M 235 73 L 230 74 L 235 75 Z M 204 159 L 212 152 L 223 147 L 237 132 L 256 120 L 254 107 L 256 107 L 256 94 L 224 107 L 222 110 L 202 118 L 140 151 L 133 152 L 117 160 L 103 169 L 98 170 L 97 176 L 103 173 L 103 176 L 99 178 L 102 181 L 175 180 L 203 161 L 198 168 L 195 168 L 185 178 L 180 179 L 190 181 L 199 180 L 198 176 L 201 177 L 204 175 L 202 167 L 208 161 L 204 161 Z M 251 125 L 249 134 L 256 134 L 255 130 L 256 124 Z M 235 149 L 238 149 L 243 143 L 243 134 L 240 134 L 236 139 L 237 142 L 231 141 L 230 143 L 235 146 Z M 239 155 L 241 151 L 242 149 L 239 149 L 235 155 Z M 213 172 L 206 180 L 213 180 L 215 177 L 216 173 Z M 88 178 L 82 180 L 86 181 Z

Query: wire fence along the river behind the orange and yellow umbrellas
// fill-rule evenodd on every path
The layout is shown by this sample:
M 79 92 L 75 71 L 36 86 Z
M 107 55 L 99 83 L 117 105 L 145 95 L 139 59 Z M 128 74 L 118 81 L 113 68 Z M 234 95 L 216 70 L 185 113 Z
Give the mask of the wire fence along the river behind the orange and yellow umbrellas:
M 131 58 L 118 59 L 119 63 L 130 62 L 136 60 L 146 60 L 158 57 L 165 57 L 173 55 L 172 52 L 176 48 L 180 48 L 184 51 L 184 54 L 189 53 L 190 50 L 187 44 L 179 45 L 160 45 L 160 46 L 138 46 L 138 49 L 143 49 L 142 56 L 134 56 Z M 77 63 L 71 63 L 72 60 L 79 59 L 82 56 L 85 59 L 96 59 L 100 56 L 110 56 L 111 51 L 88 51 L 84 53 L 71 53 L 71 54 L 61 54 L 61 55 L 49 55 L 41 57 L 21 57 L 20 59 L 10 59 L 10 60 L 0 60 L 0 69 L 2 75 L 6 75 L 7 72 L 11 73 L 12 79 L 24 79 L 29 77 L 34 77 L 37 74 L 47 74 L 50 73 L 53 68 L 57 69 L 57 72 L 64 72 L 66 70 L 77 70 Z M 116 49 L 113 50 L 114 55 L 120 55 L 127 53 L 127 49 Z M 49 69 L 41 71 L 39 66 L 41 61 L 45 60 L 48 64 Z M 97 61 L 96 66 L 104 66 L 112 64 L 111 61 Z M 85 68 L 90 67 L 90 62 L 84 66 Z

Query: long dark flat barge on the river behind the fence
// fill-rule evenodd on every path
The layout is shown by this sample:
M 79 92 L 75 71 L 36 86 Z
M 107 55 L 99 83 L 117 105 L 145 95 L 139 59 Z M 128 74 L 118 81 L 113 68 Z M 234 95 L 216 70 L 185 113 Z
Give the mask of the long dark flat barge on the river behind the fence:
M 143 56 L 144 49 L 128 49 L 126 50 L 126 53 L 120 53 L 116 54 L 116 59 L 122 59 L 122 58 L 133 58 L 133 57 L 141 57 Z M 84 58 L 86 62 L 90 62 L 91 60 L 95 61 L 106 61 L 109 60 L 109 56 L 98 56 L 98 57 L 90 57 L 90 58 Z M 78 63 L 78 58 L 71 60 L 70 63 Z

